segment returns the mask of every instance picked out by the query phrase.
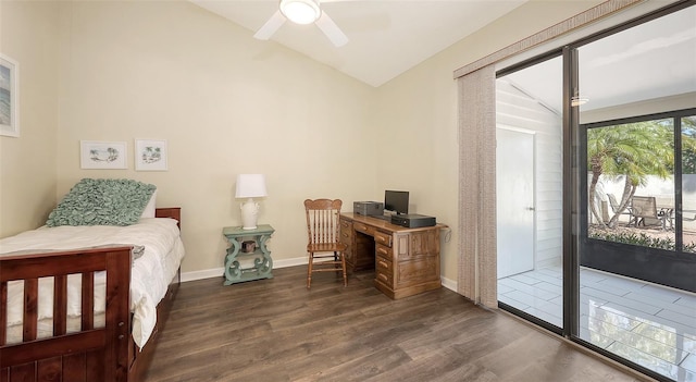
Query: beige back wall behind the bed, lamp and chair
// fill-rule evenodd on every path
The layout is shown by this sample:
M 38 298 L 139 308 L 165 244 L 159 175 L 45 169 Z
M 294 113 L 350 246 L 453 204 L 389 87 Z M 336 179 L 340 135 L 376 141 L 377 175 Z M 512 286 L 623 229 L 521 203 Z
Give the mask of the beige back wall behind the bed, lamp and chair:
M 306 256 L 306 198 L 372 193 L 373 88 L 188 2 L 61 11 L 58 195 L 86 176 L 156 184 L 158 207 L 183 208 L 184 272 L 222 267 L 239 173 L 266 176 L 276 261 Z M 135 138 L 166 139 L 169 171 L 136 172 Z M 126 141 L 128 170 L 80 170 L 80 139 Z

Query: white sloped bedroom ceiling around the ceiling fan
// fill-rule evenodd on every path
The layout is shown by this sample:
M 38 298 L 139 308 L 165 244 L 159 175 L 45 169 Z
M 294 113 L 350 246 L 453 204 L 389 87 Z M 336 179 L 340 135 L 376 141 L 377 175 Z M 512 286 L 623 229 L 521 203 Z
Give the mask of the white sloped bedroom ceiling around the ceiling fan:
M 278 7 L 277 0 L 189 1 L 249 29 L 249 38 Z M 526 1 L 324 0 L 322 10 L 347 45 L 336 48 L 315 25 L 290 22 L 271 40 L 377 87 Z

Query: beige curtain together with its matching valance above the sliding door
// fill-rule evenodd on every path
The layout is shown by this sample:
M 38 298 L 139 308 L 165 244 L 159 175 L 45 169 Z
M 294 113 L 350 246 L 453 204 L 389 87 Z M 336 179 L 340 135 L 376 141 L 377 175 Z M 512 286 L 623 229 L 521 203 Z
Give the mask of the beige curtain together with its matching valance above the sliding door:
M 495 64 L 550 42 L 642 0 L 609 0 L 455 71 L 459 87 L 458 292 L 498 307 Z

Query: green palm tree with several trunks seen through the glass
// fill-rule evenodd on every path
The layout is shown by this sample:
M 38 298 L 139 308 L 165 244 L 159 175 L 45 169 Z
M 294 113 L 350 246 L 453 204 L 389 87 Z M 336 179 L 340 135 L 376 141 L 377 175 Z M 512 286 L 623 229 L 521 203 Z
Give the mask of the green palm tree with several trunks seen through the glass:
M 594 197 L 600 175 L 624 178 L 619 210 L 608 223 L 609 227 L 614 227 L 636 188 L 646 184 L 647 175 L 666 178 L 673 164 L 673 128 L 671 125 L 666 125 L 663 121 L 636 122 L 588 130 L 587 167 L 592 171 L 589 183 L 592 214 L 604 224 Z

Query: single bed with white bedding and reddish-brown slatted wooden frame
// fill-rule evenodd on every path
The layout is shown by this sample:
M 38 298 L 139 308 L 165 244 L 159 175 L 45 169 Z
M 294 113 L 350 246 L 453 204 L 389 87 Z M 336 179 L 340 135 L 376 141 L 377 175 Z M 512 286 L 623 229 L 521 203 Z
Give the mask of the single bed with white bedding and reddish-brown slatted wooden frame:
M 0 239 L 0 381 L 144 380 L 184 257 L 181 209 L 153 206 L 154 195 L 141 200 L 135 223 Z

